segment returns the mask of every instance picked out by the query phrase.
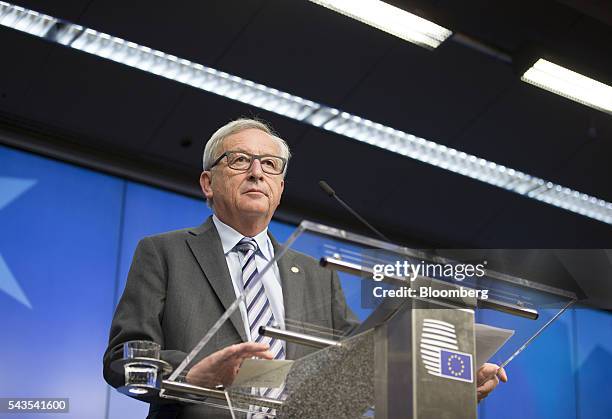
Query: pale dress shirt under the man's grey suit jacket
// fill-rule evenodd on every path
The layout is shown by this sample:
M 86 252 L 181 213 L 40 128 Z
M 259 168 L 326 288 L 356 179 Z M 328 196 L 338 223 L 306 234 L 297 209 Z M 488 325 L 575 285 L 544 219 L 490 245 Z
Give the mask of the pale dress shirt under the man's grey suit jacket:
M 225 254 L 225 261 L 232 277 L 232 285 L 236 298 L 240 297 L 240 294 L 244 291 L 242 284 L 242 262 L 244 255 L 234 249 L 240 240 L 244 238 L 242 234 L 228 226 L 216 215 L 213 215 L 213 223 L 217 228 L 219 237 L 221 238 L 221 245 L 223 246 L 223 254 Z M 268 237 L 268 229 L 253 237 L 257 242 L 257 252 L 255 253 L 255 264 L 257 265 L 257 271 L 262 272 L 264 267 L 274 258 L 274 246 Z M 278 327 L 281 329 L 285 328 L 285 305 L 283 303 L 283 288 L 280 282 L 280 273 L 278 265 L 274 263 L 270 269 L 268 269 L 261 277 L 266 295 L 270 301 L 270 308 L 274 319 Z M 244 331 L 249 340 L 251 339 L 251 330 L 249 327 L 249 318 L 247 316 L 246 304 L 243 301 L 240 304 L 240 314 L 242 316 L 242 323 L 244 324 Z

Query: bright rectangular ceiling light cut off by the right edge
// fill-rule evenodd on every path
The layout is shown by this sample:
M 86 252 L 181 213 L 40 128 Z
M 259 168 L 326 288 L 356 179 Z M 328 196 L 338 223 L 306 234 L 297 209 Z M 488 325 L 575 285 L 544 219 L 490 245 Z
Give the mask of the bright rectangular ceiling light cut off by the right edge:
M 612 114 L 612 87 L 543 58 L 525 71 L 521 80 Z

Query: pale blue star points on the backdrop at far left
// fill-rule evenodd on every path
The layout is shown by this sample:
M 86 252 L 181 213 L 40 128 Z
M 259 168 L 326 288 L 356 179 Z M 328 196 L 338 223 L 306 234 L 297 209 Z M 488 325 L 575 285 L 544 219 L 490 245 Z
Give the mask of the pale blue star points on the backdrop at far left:
M 36 182 L 36 180 L 32 179 L 0 177 L 0 211 L 19 198 L 28 189 L 32 188 Z M 0 291 L 4 291 L 24 306 L 32 308 L 30 300 L 28 300 L 21 286 L 19 286 L 19 282 L 17 282 L 11 273 L 2 254 L 0 254 Z

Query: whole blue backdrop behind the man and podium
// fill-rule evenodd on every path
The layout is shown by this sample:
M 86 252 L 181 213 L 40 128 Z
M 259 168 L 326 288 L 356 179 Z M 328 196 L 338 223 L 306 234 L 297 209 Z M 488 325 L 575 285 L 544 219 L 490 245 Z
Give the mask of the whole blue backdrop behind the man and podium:
M 138 240 L 209 214 L 202 200 L 0 146 L 0 397 L 68 397 L 61 418 L 144 418 L 146 404 L 102 378 L 113 309 Z M 284 241 L 294 226 L 270 228 Z M 349 293 L 364 315 L 359 303 Z M 612 315 L 573 310 L 513 361 L 480 417 L 610 418 L 610 365 Z

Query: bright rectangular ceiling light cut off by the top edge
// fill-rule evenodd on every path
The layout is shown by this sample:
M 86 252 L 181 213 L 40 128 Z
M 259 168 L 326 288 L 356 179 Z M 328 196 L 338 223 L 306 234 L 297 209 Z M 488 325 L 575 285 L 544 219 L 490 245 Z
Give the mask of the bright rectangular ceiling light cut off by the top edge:
M 379 0 L 310 0 L 413 44 L 434 49 L 452 35 L 440 25 Z

